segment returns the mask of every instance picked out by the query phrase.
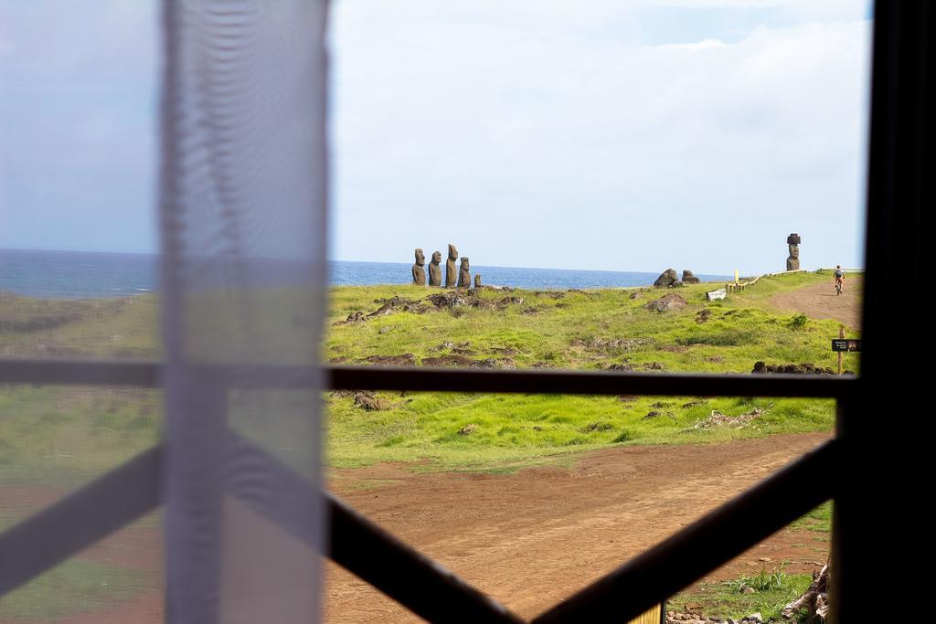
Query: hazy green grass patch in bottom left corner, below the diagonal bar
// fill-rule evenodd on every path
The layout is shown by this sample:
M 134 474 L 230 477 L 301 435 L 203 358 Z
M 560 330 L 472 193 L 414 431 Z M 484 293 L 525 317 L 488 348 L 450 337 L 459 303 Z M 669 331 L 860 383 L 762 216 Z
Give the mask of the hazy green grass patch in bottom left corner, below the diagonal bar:
M 113 607 L 153 583 L 139 570 L 69 559 L 0 598 L 0 619 L 57 621 Z

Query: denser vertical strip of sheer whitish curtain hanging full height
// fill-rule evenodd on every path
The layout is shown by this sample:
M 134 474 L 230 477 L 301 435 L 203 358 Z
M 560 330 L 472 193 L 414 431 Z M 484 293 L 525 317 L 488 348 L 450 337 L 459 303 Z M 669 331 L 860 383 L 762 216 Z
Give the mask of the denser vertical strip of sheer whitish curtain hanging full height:
M 168 621 L 318 617 L 327 8 L 164 0 Z

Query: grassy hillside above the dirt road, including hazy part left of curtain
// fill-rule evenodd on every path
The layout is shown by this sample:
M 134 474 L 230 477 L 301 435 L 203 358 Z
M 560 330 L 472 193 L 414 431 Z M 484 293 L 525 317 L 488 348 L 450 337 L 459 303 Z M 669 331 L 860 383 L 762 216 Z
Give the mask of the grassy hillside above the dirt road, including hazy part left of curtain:
M 705 284 L 677 291 L 483 290 L 454 302 L 433 302 L 427 297 L 453 295 L 415 286 L 336 287 L 323 358 L 370 365 L 380 356 L 404 356 L 418 366 L 519 369 L 748 372 L 757 360 L 834 367 L 828 339 L 838 331 L 835 322 L 797 321 L 769 304 L 773 294 L 824 279 L 774 278 L 713 303 L 704 300 L 712 287 Z M 646 308 L 667 292 L 688 305 L 670 312 Z M 367 316 L 387 300 L 384 313 Z M 364 320 L 344 323 L 355 312 Z M 154 296 L 42 301 L 3 295 L 0 356 L 158 359 L 157 320 Z M 856 367 L 856 356 L 846 356 L 846 368 Z M 613 444 L 829 429 L 833 419 L 829 401 L 812 399 L 377 393 L 357 402 L 353 394 L 326 400 L 334 466 L 422 460 L 418 465 L 428 469 L 500 470 Z M 362 402 L 382 409 L 365 409 Z M 713 410 L 737 416 L 754 409 L 764 413 L 743 428 L 695 427 Z M 0 480 L 85 481 L 158 440 L 161 411 L 155 391 L 2 388 Z

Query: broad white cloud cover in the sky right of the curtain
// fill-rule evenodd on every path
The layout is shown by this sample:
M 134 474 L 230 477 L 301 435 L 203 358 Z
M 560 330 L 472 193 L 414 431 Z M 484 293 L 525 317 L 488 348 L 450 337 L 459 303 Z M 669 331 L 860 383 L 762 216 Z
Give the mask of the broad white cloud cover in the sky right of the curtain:
M 860 260 L 868 22 L 639 46 L 478 5 L 339 5 L 338 257 L 713 272 L 799 231 L 808 265 Z

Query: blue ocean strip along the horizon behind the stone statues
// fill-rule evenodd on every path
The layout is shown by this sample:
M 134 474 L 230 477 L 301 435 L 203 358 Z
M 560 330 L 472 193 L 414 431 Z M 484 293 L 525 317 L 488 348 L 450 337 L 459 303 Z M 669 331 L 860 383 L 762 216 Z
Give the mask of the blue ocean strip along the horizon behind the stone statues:
M 411 267 L 402 262 L 332 261 L 329 282 L 410 283 Z M 481 274 L 484 284 L 538 289 L 646 286 L 659 276 L 639 271 L 473 266 L 475 273 Z M 729 279 L 726 275 L 696 276 L 704 281 Z M 151 254 L 0 250 L 0 292 L 24 297 L 90 298 L 126 297 L 157 289 L 157 257 Z

